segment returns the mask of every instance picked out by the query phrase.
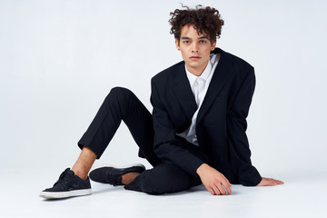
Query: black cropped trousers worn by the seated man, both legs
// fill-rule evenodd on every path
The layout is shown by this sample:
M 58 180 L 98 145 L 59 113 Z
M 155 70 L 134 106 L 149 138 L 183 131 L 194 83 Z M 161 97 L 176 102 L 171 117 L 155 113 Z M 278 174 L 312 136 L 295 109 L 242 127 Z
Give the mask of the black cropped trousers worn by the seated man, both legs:
M 88 146 L 100 158 L 122 120 L 139 146 L 140 154 L 154 166 L 137 176 L 134 182 L 125 185 L 125 189 L 152 194 L 175 193 L 201 183 L 199 177 L 157 158 L 154 154 L 152 114 L 130 90 L 122 87 L 113 88 L 106 96 L 93 122 L 78 142 L 79 147 Z M 193 153 L 200 153 L 193 144 L 189 144 L 189 148 Z

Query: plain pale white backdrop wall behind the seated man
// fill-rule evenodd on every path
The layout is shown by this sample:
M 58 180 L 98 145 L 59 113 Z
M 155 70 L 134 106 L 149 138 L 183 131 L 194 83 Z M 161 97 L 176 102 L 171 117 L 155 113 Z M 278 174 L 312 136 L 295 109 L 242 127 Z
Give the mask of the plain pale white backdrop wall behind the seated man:
M 114 86 L 152 110 L 151 77 L 182 60 L 167 22 L 179 2 L 0 0 L 0 167 L 72 166 Z M 326 173 L 325 1 L 183 3 L 219 9 L 217 45 L 255 67 L 247 133 L 258 170 Z M 99 162 L 145 163 L 124 124 Z

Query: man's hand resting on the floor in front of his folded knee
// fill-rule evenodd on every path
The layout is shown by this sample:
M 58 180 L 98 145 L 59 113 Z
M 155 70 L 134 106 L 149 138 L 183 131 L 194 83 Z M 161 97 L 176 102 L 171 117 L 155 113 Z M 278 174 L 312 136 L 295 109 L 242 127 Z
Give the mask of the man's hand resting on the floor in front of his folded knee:
M 223 173 L 220 173 L 210 165 L 203 163 L 196 170 L 196 173 L 200 176 L 204 187 L 213 195 L 232 194 L 232 184 L 224 177 Z

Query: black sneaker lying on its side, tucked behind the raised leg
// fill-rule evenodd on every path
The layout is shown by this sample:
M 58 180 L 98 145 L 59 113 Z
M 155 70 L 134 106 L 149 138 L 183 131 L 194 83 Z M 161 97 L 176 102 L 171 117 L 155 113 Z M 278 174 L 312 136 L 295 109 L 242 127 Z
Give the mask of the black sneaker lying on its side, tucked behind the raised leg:
M 122 175 L 124 173 L 142 173 L 145 170 L 143 164 L 134 164 L 128 167 L 101 166 L 95 168 L 90 174 L 90 179 L 98 183 L 110 183 L 114 186 L 124 185 Z

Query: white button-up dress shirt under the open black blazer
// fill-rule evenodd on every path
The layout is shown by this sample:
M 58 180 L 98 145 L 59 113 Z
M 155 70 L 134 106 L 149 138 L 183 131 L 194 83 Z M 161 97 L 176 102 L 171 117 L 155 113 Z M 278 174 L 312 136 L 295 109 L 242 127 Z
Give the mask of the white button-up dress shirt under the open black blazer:
M 205 94 L 208 90 L 209 84 L 213 78 L 213 73 L 214 73 L 215 68 L 217 67 L 219 59 L 220 59 L 220 54 L 210 54 L 209 63 L 207 64 L 203 73 L 200 76 L 191 74 L 187 70 L 186 65 L 185 65 L 186 75 L 190 82 L 192 92 L 194 94 L 195 102 L 196 102 L 198 108 L 195 111 L 195 113 L 193 114 L 192 124 L 190 125 L 190 127 L 187 130 L 185 130 L 182 134 L 177 134 L 177 135 L 183 137 L 188 142 L 195 144 L 195 145 L 199 145 L 196 134 L 195 134 L 195 124 L 196 124 L 197 114 L 199 113 L 201 105 L 203 104 L 204 96 L 205 96 Z

